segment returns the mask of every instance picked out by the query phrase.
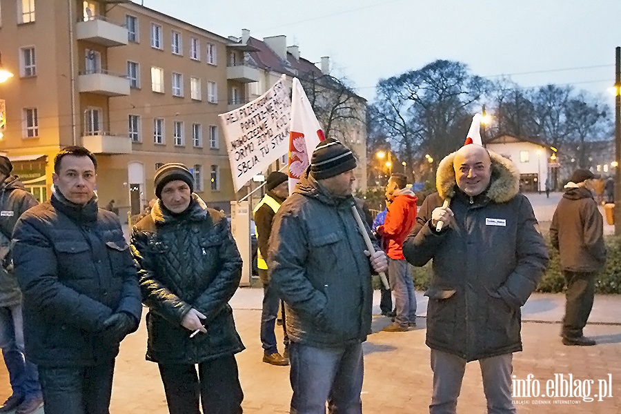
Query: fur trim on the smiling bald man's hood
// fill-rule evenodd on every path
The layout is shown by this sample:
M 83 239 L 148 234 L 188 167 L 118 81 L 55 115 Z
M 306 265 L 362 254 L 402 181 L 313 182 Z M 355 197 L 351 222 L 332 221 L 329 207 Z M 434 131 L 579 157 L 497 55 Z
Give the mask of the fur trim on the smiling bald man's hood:
M 520 172 L 517 172 L 517 169 L 509 159 L 490 150 L 487 150 L 487 152 L 489 152 L 489 157 L 491 158 L 492 168 L 487 197 L 495 203 L 505 203 L 520 192 Z M 455 194 L 457 181 L 455 180 L 455 169 L 453 168 L 454 159 L 455 152 L 451 152 L 437 166 L 435 186 L 442 199 L 453 197 Z

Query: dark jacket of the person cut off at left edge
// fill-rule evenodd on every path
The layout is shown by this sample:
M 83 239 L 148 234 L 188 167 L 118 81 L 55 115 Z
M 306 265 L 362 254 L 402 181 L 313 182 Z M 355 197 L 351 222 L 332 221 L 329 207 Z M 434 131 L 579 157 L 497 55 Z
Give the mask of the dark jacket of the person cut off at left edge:
M 10 262 L 11 235 L 17 219 L 37 200 L 26 191 L 16 176 L 7 177 L 0 184 L 0 261 Z M 14 274 L 0 266 L 0 306 L 16 306 L 21 292 Z

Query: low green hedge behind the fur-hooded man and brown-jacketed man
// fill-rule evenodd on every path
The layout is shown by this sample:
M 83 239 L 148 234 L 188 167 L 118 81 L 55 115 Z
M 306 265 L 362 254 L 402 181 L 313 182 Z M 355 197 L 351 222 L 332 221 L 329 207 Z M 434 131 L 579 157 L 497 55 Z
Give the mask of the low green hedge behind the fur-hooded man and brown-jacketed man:
M 607 248 L 607 261 L 595 282 L 595 293 L 621 294 L 621 237 L 604 237 Z M 550 262 L 535 292 L 561 293 L 565 287 L 565 279 L 560 268 L 558 250 L 552 248 L 549 237 L 546 244 L 550 253 Z M 431 262 L 421 268 L 412 266 L 412 277 L 417 290 L 427 290 L 431 280 Z

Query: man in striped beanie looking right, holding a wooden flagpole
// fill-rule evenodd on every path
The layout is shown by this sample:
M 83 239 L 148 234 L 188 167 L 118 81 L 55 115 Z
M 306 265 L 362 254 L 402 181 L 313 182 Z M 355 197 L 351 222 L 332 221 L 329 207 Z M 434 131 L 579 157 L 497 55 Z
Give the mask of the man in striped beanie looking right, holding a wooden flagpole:
M 268 269 L 286 304 L 291 413 L 324 413 L 326 402 L 334 412 L 362 413 L 371 271 L 386 270 L 387 261 L 377 246 L 369 257 L 352 214 L 355 166 L 351 150 L 335 139 L 322 141 L 276 213 Z

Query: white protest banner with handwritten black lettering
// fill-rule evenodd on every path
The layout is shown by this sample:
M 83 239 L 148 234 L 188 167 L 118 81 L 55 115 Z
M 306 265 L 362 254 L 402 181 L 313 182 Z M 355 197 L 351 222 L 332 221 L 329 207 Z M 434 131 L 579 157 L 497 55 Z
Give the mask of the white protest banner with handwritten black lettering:
M 282 75 L 254 101 L 219 115 L 235 191 L 287 153 L 291 100 L 285 79 Z

